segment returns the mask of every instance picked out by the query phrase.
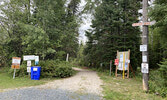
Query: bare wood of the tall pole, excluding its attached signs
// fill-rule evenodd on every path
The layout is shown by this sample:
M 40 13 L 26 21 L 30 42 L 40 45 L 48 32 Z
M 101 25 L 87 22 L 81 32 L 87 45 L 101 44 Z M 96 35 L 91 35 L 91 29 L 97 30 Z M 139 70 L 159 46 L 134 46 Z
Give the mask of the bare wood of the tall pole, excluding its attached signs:
M 148 0 L 143 0 L 143 23 L 148 22 Z M 148 48 L 148 25 L 143 25 L 142 27 L 143 32 L 142 32 L 142 44 L 147 45 Z M 142 63 L 148 63 L 149 66 L 149 59 L 148 59 L 148 49 L 147 51 L 142 52 L 142 57 L 145 56 L 147 61 Z M 149 75 L 148 73 L 143 73 L 143 90 L 148 92 L 148 80 L 149 80 Z

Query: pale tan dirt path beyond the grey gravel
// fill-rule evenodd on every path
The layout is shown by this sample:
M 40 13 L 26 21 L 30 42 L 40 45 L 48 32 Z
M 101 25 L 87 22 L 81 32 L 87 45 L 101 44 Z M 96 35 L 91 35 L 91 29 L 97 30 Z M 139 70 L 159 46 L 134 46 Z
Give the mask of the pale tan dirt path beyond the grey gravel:
M 70 78 L 55 80 L 47 84 L 38 86 L 38 88 L 56 88 L 77 93 L 91 93 L 102 96 L 102 80 L 95 71 L 87 69 L 73 68 L 78 73 Z

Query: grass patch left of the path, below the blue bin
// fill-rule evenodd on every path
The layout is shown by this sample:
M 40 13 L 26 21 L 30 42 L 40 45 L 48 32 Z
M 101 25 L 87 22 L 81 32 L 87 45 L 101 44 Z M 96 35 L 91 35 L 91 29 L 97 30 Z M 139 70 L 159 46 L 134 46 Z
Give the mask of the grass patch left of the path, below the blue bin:
M 9 88 L 20 88 L 28 86 L 36 86 L 47 83 L 53 79 L 43 78 L 40 80 L 31 80 L 30 76 L 27 77 L 13 77 L 9 75 L 4 69 L 0 69 L 0 90 Z

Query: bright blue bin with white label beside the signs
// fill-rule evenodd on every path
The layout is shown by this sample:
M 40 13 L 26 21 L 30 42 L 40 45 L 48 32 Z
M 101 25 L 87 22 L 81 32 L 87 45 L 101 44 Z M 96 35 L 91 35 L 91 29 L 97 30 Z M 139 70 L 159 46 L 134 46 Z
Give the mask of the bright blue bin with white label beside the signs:
M 40 79 L 40 73 L 41 73 L 41 67 L 40 66 L 32 66 L 31 67 L 31 80 L 39 80 Z

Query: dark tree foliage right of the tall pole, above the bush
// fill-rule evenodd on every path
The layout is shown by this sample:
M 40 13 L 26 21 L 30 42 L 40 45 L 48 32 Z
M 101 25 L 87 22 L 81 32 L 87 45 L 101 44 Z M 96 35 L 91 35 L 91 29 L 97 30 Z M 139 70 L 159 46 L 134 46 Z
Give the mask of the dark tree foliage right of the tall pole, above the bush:
M 156 21 L 150 32 L 150 67 L 158 68 L 157 63 L 167 58 L 167 1 L 155 0 L 154 6 L 150 7 L 149 16 L 152 21 Z

